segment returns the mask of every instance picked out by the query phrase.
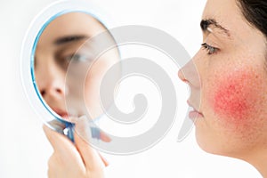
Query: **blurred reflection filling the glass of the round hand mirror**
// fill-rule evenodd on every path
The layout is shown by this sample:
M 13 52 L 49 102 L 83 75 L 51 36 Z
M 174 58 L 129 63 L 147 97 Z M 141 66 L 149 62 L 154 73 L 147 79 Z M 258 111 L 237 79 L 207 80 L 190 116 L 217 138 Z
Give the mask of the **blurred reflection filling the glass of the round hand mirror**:
M 101 55 L 96 49 L 102 43 L 115 44 L 109 33 L 101 37 L 101 41 L 93 38 L 104 31 L 107 28 L 92 15 L 69 12 L 52 20 L 37 41 L 34 53 L 36 88 L 44 106 L 54 115 L 47 118 L 47 123 L 56 130 L 60 130 L 63 120 L 85 114 L 96 118 L 103 112 L 101 79 L 119 59 L 117 47 Z M 109 91 L 113 94 L 114 89 Z

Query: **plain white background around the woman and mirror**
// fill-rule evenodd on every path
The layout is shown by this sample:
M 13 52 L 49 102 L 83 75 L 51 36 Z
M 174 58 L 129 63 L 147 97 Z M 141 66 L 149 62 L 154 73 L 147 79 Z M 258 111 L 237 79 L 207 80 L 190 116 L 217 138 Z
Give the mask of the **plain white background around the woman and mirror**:
M 20 82 L 20 47 L 28 25 L 53 0 L 0 2 L 0 177 L 46 177 L 52 148 L 41 119 L 30 107 Z M 94 0 L 117 25 L 149 25 L 176 37 L 192 56 L 201 44 L 199 20 L 205 0 Z M 215 10 L 214 10 L 215 11 Z M 185 86 L 177 79 L 180 95 Z M 178 96 L 179 96 L 178 93 Z M 185 101 L 183 96 L 182 100 Z M 177 118 L 178 119 L 178 118 Z M 107 177 L 261 177 L 245 162 L 200 150 L 194 134 L 176 137 L 181 121 L 151 150 L 133 156 L 105 155 Z

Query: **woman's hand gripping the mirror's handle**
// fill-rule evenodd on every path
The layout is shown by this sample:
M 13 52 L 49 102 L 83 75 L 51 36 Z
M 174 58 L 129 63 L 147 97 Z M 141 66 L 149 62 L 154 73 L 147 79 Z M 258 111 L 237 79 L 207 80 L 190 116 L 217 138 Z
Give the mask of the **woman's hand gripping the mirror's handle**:
M 48 162 L 49 178 L 104 177 L 103 168 L 108 166 L 107 161 L 76 132 L 74 145 L 66 136 L 58 134 L 46 125 L 43 128 L 54 150 Z

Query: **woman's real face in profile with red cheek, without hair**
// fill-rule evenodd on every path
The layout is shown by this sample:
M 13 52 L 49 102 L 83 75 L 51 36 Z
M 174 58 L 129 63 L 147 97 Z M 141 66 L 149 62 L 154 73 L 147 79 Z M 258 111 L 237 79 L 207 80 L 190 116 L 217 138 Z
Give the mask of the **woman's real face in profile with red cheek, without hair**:
M 179 71 L 190 85 L 198 144 L 246 159 L 267 149 L 265 38 L 235 0 L 208 0 L 201 28 L 203 46 Z

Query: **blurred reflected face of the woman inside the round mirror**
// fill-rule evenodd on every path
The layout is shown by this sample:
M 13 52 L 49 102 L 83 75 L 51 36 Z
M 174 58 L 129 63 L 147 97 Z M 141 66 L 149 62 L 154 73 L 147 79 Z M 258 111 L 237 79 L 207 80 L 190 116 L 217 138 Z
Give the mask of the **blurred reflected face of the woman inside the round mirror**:
M 101 114 L 101 79 L 109 67 L 117 62 L 117 50 L 109 50 L 94 60 L 85 42 L 104 30 L 106 28 L 101 22 L 92 16 L 70 12 L 53 20 L 39 38 L 35 53 L 36 84 L 44 101 L 63 118 L 85 114 L 81 103 L 75 103 L 76 108 L 66 106 L 68 97 L 77 90 L 71 83 L 66 83 L 69 64 L 73 61 L 77 67 L 88 67 L 85 77 L 76 78 L 84 82 L 85 108 L 90 110 L 91 117 Z M 80 71 L 81 68 L 73 70 Z

